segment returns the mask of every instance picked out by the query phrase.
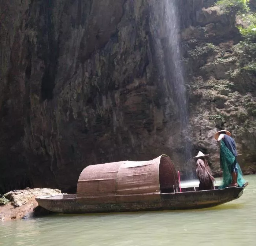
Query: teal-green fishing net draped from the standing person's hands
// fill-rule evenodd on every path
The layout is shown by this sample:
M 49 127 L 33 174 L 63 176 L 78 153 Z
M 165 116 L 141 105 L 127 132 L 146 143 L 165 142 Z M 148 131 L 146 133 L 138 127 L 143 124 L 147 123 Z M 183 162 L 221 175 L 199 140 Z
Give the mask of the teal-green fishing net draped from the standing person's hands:
M 231 182 L 231 171 L 232 164 L 234 163 L 235 156 L 231 153 L 231 151 L 227 148 L 225 143 L 220 141 L 220 167 L 222 169 L 222 185 L 220 188 L 226 188 Z M 242 170 L 240 165 L 237 163 L 237 183 L 239 187 L 242 187 L 245 184 L 245 180 L 242 176 Z

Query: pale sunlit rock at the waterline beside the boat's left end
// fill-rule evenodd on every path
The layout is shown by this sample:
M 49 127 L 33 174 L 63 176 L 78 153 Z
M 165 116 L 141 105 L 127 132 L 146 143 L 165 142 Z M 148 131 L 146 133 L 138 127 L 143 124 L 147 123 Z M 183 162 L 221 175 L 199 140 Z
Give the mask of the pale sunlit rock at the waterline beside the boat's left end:
M 49 213 L 38 206 L 35 198 L 60 193 L 61 191 L 57 189 L 30 189 L 28 187 L 25 190 L 10 191 L 0 198 L 0 220 L 21 219 Z

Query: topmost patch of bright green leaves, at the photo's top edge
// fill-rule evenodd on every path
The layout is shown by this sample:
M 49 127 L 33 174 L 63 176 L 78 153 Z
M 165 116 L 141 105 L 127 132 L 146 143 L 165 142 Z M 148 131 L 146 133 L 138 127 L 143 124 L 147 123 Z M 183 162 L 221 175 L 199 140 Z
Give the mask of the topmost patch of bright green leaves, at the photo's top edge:
M 227 12 L 246 13 L 249 11 L 249 0 L 219 0 L 216 5 L 224 8 Z

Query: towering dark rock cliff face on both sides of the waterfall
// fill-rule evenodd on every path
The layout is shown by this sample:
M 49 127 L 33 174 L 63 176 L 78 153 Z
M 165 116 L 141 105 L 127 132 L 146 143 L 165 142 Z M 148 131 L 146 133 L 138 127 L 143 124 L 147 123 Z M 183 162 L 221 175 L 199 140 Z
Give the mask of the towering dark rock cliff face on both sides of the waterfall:
M 241 162 L 255 165 L 255 77 L 234 74 L 241 36 L 213 3 L 178 3 L 190 99 L 184 138 L 172 78 L 159 70 L 168 56 L 159 2 L 1 1 L 0 193 L 74 192 L 87 165 L 162 153 L 182 169 L 185 141 L 193 153 L 217 153 L 218 127 L 232 131 Z

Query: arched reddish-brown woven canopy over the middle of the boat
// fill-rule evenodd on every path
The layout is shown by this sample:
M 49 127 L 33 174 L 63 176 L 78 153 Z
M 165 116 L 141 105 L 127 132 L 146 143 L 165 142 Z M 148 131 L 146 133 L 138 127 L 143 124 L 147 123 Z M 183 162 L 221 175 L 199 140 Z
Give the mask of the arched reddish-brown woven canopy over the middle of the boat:
M 79 176 L 77 200 L 116 203 L 160 200 L 160 193 L 179 187 L 171 159 L 119 161 L 90 165 Z

